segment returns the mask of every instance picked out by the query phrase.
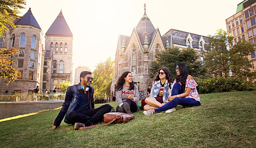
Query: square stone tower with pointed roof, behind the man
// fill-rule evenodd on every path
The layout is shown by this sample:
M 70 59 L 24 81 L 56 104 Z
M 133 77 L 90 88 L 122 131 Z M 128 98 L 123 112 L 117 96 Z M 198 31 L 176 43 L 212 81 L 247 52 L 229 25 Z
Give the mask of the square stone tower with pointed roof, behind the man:
M 60 11 L 45 33 L 45 57 L 43 66 L 42 90 L 53 90 L 59 82 L 72 79 L 73 34 Z

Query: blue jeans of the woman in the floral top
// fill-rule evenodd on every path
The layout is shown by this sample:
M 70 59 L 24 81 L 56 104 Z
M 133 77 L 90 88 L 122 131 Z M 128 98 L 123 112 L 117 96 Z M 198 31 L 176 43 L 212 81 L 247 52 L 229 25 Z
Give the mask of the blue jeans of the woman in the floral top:
M 173 89 L 172 89 L 172 95 L 178 95 L 182 93 L 182 88 L 180 86 L 180 83 L 175 83 L 173 85 Z M 163 112 L 165 110 L 169 110 L 171 108 L 176 107 L 177 105 L 182 105 L 183 107 L 193 107 L 193 106 L 200 106 L 201 103 L 200 101 L 196 101 L 193 98 L 182 98 L 182 97 L 175 97 L 172 101 L 166 103 L 165 105 L 156 108 L 155 112 Z

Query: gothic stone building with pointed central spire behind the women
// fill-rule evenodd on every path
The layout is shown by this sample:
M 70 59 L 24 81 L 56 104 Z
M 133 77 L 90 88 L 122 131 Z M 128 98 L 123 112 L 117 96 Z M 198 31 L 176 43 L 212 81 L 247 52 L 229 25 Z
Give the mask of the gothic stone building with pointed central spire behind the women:
M 200 61 L 204 61 L 202 51 L 209 41 L 206 36 L 171 29 L 161 36 L 159 28 L 155 28 L 147 14 L 140 19 L 132 30 L 131 36 L 119 35 L 111 84 L 111 95 L 115 94 L 114 85 L 125 71 L 132 72 L 134 83 L 139 90 L 146 89 L 152 80 L 149 78 L 151 62 L 155 60 L 157 51 L 167 47 L 192 47 L 198 51 Z

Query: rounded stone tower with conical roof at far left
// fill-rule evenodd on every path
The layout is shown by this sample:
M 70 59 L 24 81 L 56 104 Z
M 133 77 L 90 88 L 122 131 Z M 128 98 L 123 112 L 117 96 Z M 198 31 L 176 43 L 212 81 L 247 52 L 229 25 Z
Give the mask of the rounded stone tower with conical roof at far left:
M 21 72 L 21 78 L 6 85 L 6 80 L 0 80 L 0 93 L 32 93 L 40 84 L 42 65 L 43 32 L 31 12 L 31 8 L 10 28 L 2 41 L 4 48 L 19 49 L 20 54 L 11 57 L 12 66 Z

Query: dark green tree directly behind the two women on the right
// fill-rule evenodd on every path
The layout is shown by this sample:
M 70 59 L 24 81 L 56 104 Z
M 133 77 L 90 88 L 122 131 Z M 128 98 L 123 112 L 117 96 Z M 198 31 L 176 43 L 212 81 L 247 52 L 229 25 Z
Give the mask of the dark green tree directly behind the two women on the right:
M 193 48 L 180 50 L 179 47 L 169 47 L 155 54 L 155 61 L 151 63 L 151 68 L 149 68 L 149 77 L 153 78 L 159 68 L 166 67 L 171 76 L 175 78 L 175 68 L 178 62 L 186 63 L 188 72 L 193 77 L 202 77 L 206 74 L 206 69 L 198 59 L 199 56 Z

